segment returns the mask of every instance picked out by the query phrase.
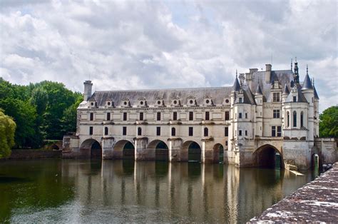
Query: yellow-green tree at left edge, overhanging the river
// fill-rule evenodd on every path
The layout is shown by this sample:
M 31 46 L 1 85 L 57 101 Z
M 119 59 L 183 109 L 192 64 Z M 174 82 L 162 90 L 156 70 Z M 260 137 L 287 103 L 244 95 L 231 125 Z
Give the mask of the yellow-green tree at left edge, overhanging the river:
M 11 155 L 11 148 L 14 146 L 14 133 L 16 124 L 11 117 L 6 116 L 0 110 L 0 158 Z

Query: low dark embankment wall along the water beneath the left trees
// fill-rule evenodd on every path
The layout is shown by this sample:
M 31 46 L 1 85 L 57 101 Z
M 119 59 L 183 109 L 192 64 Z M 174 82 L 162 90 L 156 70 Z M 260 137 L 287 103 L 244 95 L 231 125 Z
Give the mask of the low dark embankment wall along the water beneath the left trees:
M 11 156 L 6 159 L 61 158 L 61 156 L 61 150 L 14 149 Z

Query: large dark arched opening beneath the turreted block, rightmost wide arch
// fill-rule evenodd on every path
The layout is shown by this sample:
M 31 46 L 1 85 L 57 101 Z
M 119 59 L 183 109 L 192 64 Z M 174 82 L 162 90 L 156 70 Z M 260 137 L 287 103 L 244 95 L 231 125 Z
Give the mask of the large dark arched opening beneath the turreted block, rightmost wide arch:
M 284 168 L 282 154 L 269 144 L 257 148 L 254 153 L 255 166 L 262 168 Z

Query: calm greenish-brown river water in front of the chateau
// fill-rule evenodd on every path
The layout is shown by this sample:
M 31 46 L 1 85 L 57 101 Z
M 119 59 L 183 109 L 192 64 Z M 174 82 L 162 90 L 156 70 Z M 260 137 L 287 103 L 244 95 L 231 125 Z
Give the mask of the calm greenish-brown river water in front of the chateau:
M 313 178 L 223 164 L 0 161 L 0 223 L 245 223 Z

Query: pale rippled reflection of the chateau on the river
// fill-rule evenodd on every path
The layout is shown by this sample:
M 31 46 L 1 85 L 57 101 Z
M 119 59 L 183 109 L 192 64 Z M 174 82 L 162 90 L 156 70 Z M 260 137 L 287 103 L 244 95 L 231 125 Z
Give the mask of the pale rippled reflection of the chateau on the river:
M 312 179 L 285 170 L 134 161 L 62 161 L 62 177 L 73 178 L 79 222 L 243 223 Z

